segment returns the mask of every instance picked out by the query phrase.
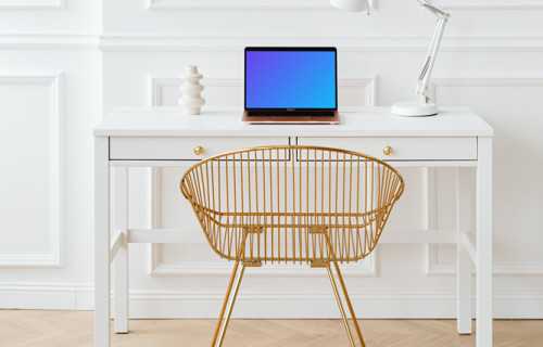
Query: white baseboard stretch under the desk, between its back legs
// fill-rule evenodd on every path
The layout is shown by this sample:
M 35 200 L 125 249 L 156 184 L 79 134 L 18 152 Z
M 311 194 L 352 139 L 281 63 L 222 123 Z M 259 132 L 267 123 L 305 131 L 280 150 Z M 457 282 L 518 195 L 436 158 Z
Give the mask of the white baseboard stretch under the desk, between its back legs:
M 351 294 L 358 318 L 452 318 L 456 303 L 451 293 L 370 292 Z M 130 295 L 130 317 L 215 319 L 223 294 L 141 293 Z M 236 318 L 341 318 L 329 294 L 242 293 L 232 313 Z

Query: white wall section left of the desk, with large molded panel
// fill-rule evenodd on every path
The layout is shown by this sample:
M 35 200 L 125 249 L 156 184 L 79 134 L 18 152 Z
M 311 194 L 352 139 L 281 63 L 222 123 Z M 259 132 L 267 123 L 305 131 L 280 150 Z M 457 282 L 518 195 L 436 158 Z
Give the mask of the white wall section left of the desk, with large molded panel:
M 98 3 L 0 0 L 0 307 L 92 301 Z

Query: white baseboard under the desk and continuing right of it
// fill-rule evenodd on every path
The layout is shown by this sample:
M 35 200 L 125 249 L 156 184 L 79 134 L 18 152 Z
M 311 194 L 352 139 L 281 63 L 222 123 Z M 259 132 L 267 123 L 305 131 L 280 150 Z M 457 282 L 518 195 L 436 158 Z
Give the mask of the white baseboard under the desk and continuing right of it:
M 252 275 L 256 271 L 251 271 Z M 349 285 L 349 284 L 348 284 Z M 325 291 L 328 288 L 324 287 Z M 455 319 L 454 291 L 350 291 L 361 319 Z M 130 316 L 141 319 L 216 319 L 224 294 L 130 293 Z M 542 319 L 543 292 L 494 291 L 494 319 Z M 255 310 L 254 308 L 258 309 Z M 331 293 L 265 293 L 240 291 L 235 318 L 334 318 L 339 319 Z

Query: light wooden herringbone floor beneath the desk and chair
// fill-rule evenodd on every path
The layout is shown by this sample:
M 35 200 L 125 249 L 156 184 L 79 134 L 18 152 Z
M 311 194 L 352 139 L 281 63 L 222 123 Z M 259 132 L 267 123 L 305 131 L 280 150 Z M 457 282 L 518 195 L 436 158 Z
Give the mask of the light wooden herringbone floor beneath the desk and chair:
M 0 310 L 2 347 L 91 347 L 91 311 Z M 361 320 L 368 347 L 475 346 L 454 320 Z M 214 320 L 131 320 L 112 346 L 210 346 Z M 224 347 L 349 346 L 340 320 L 232 320 Z M 543 347 L 543 320 L 494 321 L 494 346 Z

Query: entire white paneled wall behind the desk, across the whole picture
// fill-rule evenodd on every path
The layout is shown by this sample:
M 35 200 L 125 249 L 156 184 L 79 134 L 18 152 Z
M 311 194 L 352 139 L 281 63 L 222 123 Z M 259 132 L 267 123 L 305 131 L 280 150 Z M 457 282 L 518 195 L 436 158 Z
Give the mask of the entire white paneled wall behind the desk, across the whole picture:
M 10 170 L 0 174 L 8 193 L 0 197 L 0 307 L 91 308 L 91 129 L 102 111 L 175 105 L 187 64 L 204 75 L 206 107 L 241 110 L 245 46 L 336 46 L 340 108 L 390 105 L 414 99 L 434 26 L 405 0 L 380 0 L 370 16 L 326 0 L 33 3 L 15 10 L 0 0 L 0 95 L 9 95 L 0 110 L 11 119 L 1 130 Z M 435 3 L 454 14 L 432 93 L 441 105 L 472 107 L 496 134 L 495 316 L 543 318 L 543 1 Z M 181 172 L 130 170 L 131 227 L 187 230 L 185 245 L 130 246 L 132 317 L 217 314 L 231 265 L 212 254 L 185 208 Z M 455 171 L 402 172 L 407 190 L 389 228 L 454 228 Z M 451 246 L 381 246 L 346 271 L 358 314 L 454 317 L 454 262 Z M 306 269 L 272 278 L 249 271 L 235 314 L 336 317 L 326 281 Z

